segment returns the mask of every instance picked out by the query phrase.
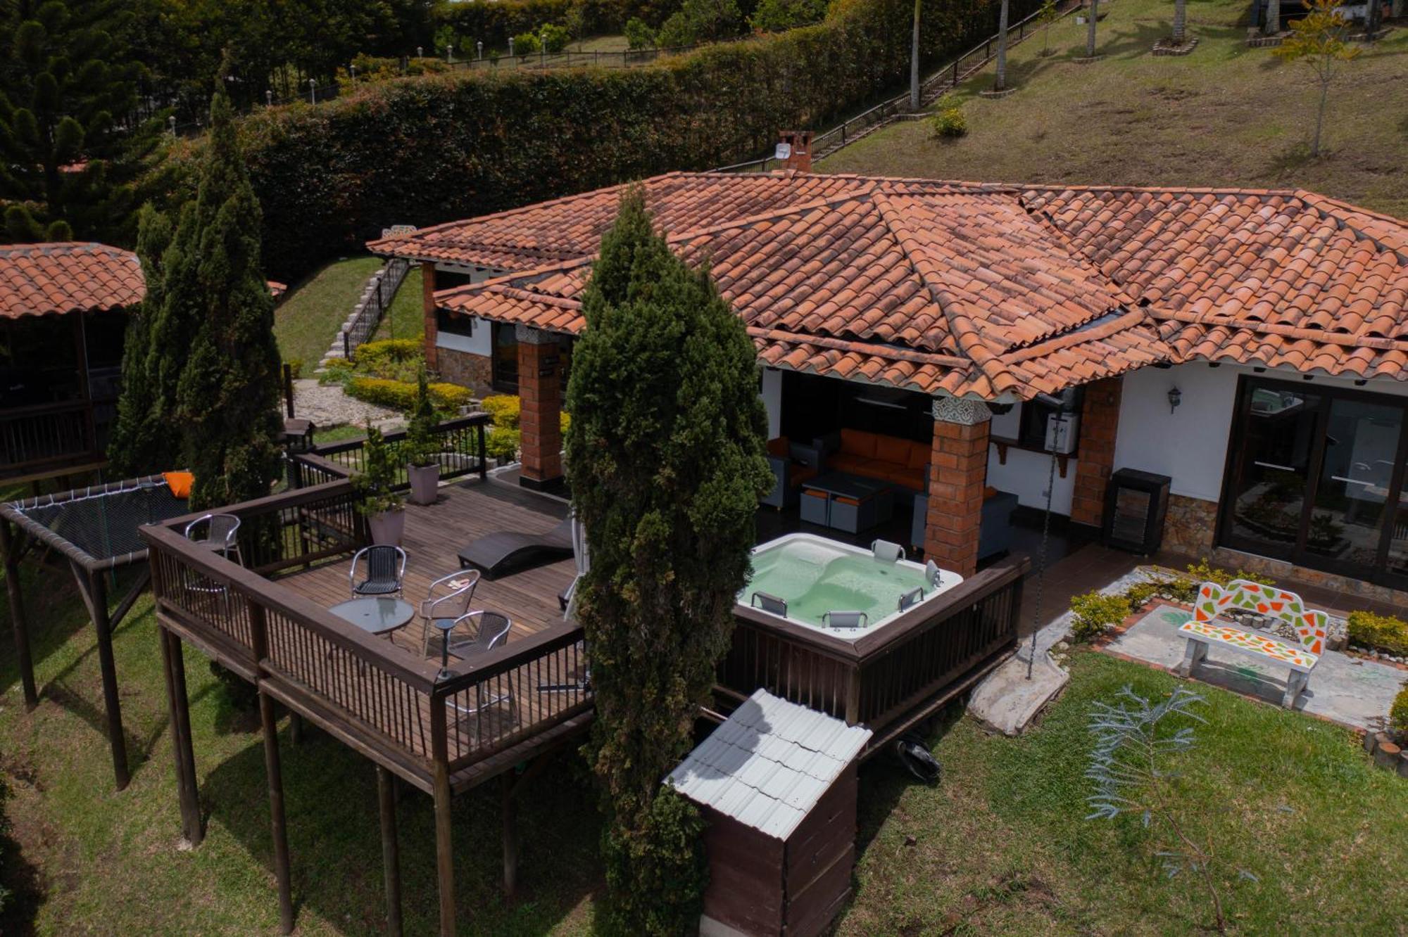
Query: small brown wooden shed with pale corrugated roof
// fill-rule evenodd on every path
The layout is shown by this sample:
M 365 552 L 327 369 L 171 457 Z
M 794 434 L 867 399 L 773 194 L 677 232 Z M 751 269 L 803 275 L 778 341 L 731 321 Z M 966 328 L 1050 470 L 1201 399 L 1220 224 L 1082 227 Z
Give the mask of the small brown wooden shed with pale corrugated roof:
M 704 937 L 822 933 L 850 896 L 870 730 L 759 689 L 670 772 L 703 809 Z

